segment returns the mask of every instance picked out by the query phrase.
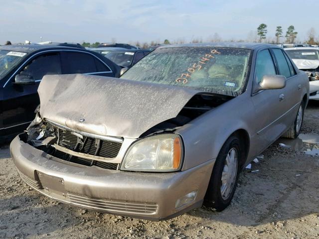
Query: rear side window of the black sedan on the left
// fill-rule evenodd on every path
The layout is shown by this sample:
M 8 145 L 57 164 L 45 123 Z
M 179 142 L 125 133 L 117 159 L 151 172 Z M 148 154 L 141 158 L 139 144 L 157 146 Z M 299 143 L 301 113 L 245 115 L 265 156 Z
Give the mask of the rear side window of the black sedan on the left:
M 82 52 L 63 52 L 63 74 L 85 74 L 98 72 L 95 58 Z

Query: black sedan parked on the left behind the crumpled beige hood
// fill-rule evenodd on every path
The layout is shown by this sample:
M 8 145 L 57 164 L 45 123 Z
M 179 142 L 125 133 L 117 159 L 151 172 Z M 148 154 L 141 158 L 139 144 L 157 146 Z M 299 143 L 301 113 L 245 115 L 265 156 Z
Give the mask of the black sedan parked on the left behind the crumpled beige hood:
M 23 131 L 39 105 L 44 75 L 119 77 L 121 68 L 102 55 L 57 45 L 0 46 L 0 142 Z

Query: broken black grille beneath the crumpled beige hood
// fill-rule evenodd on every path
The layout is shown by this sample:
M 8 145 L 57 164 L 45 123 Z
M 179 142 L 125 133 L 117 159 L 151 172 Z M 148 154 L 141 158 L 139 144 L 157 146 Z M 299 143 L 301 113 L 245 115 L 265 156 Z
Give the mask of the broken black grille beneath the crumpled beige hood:
M 122 146 L 121 142 L 112 142 L 107 140 L 100 140 L 91 137 L 83 136 L 83 138 L 71 133 L 71 131 L 58 128 L 56 126 L 52 127 L 57 132 L 58 141 L 57 144 L 61 147 L 70 149 L 74 152 L 81 152 L 85 154 L 105 157 L 105 158 L 115 158 Z M 98 166 L 105 169 L 118 169 L 118 163 L 102 162 L 86 158 L 81 158 L 78 156 L 72 156 L 68 153 L 54 150 L 53 156 L 67 160 L 73 163 L 78 163 L 85 166 Z

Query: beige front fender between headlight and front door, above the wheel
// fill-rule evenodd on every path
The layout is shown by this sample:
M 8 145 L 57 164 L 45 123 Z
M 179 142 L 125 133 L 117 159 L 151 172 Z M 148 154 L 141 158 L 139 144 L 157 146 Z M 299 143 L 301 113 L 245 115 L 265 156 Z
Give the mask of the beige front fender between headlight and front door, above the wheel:
M 236 130 L 245 130 L 251 139 L 253 130 L 249 125 L 253 123 L 254 108 L 250 100 L 239 98 L 210 110 L 176 131 L 184 143 L 182 170 L 216 159 L 227 138 Z

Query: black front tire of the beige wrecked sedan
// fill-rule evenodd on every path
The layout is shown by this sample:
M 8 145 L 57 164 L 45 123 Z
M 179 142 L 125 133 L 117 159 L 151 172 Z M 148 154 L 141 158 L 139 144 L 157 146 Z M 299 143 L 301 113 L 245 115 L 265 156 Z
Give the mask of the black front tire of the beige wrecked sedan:
M 214 208 L 216 209 L 216 211 L 220 212 L 223 211 L 230 204 L 237 187 L 240 169 L 239 165 L 241 162 L 240 157 L 243 157 L 244 155 L 243 147 L 241 145 L 242 143 L 240 142 L 240 139 L 236 135 L 232 135 L 222 146 L 213 167 L 213 171 L 210 176 L 208 188 L 204 198 L 204 205 L 206 207 Z M 228 155 L 230 155 L 229 153 L 232 152 L 235 152 L 237 156 L 236 166 L 233 165 L 232 167 L 225 168 L 227 166 L 226 158 Z M 230 158 L 228 158 L 228 160 L 230 160 Z M 222 175 L 225 169 L 230 169 L 229 171 L 234 173 L 231 174 L 233 178 L 228 178 L 228 182 L 232 182 L 232 184 L 230 184 L 230 187 L 226 189 L 229 190 L 229 192 L 224 192 L 224 194 L 222 195 L 222 189 L 225 188 L 225 181 L 227 181 L 224 180 L 222 182 Z M 227 178 L 227 175 L 224 175 L 224 179 L 225 178 Z

